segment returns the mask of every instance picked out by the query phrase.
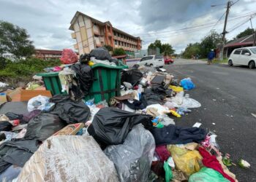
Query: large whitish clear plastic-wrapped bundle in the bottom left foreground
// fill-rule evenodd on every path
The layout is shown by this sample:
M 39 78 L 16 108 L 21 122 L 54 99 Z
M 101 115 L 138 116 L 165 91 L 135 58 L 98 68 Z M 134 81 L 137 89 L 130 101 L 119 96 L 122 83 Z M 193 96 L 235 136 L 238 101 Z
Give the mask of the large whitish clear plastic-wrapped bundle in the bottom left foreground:
M 54 136 L 42 143 L 18 181 L 118 181 L 113 162 L 91 136 Z

